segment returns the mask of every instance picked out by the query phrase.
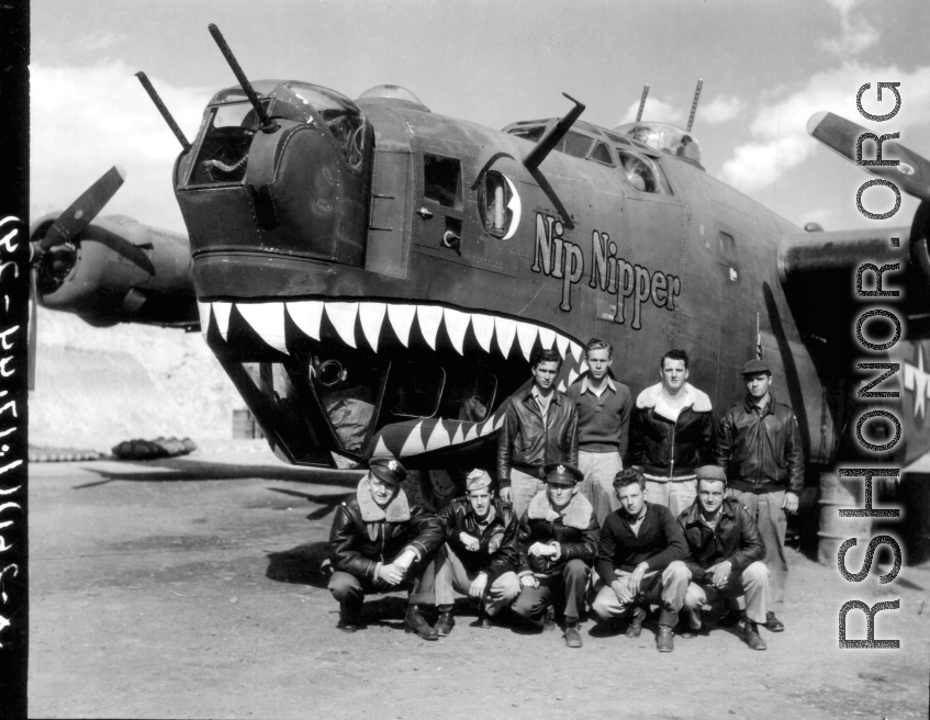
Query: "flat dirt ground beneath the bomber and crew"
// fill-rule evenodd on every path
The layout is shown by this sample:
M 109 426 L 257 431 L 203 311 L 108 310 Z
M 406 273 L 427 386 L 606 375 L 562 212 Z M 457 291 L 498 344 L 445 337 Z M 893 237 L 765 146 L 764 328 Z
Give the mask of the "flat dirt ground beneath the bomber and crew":
M 786 631 L 766 652 L 727 630 L 656 651 L 560 631 L 402 629 L 400 595 L 336 630 L 320 570 L 332 511 L 358 473 L 307 471 L 270 452 L 30 468 L 30 716 L 42 718 L 925 718 L 930 567 L 861 585 L 793 552 Z M 310 516 L 310 517 L 307 517 Z M 861 555 L 860 555 L 861 556 Z M 848 566 L 858 569 L 850 553 Z M 849 599 L 900 598 L 876 638 L 839 650 Z M 856 618 L 856 615 L 860 617 Z M 862 638 L 853 614 L 850 638 Z

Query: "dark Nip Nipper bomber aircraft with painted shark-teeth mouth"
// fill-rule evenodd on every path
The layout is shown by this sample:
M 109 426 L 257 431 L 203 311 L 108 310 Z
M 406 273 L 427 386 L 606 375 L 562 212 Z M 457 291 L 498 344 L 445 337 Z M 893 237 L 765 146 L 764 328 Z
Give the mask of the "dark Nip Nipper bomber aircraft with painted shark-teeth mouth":
M 853 391 L 875 374 L 854 367 L 850 329 L 865 260 L 899 262 L 884 281 L 905 290 L 907 338 L 866 358 L 904 368 L 879 386 L 901 392 L 897 458 L 930 449 L 930 166 L 919 156 L 898 147 L 916 169 L 905 190 L 923 201 L 910 227 L 799 229 L 709 177 L 691 123 L 608 130 L 579 120 L 572 100 L 563 117 L 495 131 L 434 113 L 397 86 L 354 101 L 304 81 L 251 83 L 211 32 L 238 83 L 212 98 L 193 142 L 172 127 L 189 247 L 131 221 L 43 221 L 33 241 L 65 248 L 71 265 L 43 271 L 57 284 L 40 282 L 40 299 L 53 306 L 97 272 L 115 289 L 110 319 L 155 300 L 167 315 L 138 318 L 192 326 L 195 294 L 206 342 L 288 461 L 332 464 L 335 452 L 491 468 L 533 349 L 564 358 L 564 389 L 597 336 L 634 395 L 657 382 L 666 350 L 685 349 L 691 382 L 718 413 L 744 394 L 743 363 L 764 358 L 797 414 L 808 468 L 826 470 L 853 451 L 851 424 L 867 408 Z M 809 130 L 852 158 L 851 126 L 818 115 Z M 85 270 L 98 246 L 120 258 Z M 146 297 L 109 280 L 144 261 L 153 286 L 175 289 Z M 86 307 L 94 322 L 99 301 Z M 873 425 L 873 437 L 887 429 Z

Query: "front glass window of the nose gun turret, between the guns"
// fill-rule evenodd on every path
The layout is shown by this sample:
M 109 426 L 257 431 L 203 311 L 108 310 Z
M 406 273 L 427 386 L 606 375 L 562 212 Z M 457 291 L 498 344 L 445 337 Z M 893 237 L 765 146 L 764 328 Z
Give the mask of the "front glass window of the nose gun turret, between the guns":
M 268 108 L 268 101 L 264 106 Z M 251 136 L 258 130 L 258 115 L 247 102 L 211 110 L 206 132 L 188 184 L 225 184 L 245 178 Z

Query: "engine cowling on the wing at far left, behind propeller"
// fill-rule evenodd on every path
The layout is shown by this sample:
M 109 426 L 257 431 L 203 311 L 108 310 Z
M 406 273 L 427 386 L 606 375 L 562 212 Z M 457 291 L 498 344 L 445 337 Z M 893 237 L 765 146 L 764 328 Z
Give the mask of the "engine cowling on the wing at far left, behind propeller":
M 31 227 L 38 241 L 57 213 Z M 199 316 L 187 239 L 124 216 L 98 217 L 70 243 L 47 250 L 37 266 L 37 301 L 91 325 L 137 322 L 194 326 Z

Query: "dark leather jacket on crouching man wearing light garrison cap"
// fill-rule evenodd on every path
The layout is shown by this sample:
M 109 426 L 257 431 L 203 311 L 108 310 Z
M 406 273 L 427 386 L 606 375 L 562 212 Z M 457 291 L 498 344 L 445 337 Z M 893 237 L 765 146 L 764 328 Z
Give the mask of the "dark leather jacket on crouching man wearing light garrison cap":
M 469 573 L 488 573 L 488 582 L 493 583 L 498 575 L 516 572 L 519 563 L 517 544 L 518 524 L 513 506 L 496 498 L 494 519 L 484 530 L 478 527 L 478 519 L 467 497 L 457 497 L 439 510 L 438 518 L 446 529 L 446 542 Z M 466 550 L 461 533 L 478 538 L 478 550 Z

